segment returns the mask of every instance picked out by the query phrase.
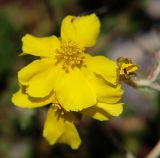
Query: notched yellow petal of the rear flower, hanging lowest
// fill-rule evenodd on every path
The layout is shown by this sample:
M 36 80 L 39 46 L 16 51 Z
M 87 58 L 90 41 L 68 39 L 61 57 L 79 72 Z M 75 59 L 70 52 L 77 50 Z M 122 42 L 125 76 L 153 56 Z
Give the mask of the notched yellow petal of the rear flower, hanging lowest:
M 61 116 L 52 107 L 47 114 L 43 136 L 50 144 L 64 143 L 70 145 L 72 149 L 77 149 L 81 144 L 81 139 L 72 122 L 71 114 L 68 113 Z

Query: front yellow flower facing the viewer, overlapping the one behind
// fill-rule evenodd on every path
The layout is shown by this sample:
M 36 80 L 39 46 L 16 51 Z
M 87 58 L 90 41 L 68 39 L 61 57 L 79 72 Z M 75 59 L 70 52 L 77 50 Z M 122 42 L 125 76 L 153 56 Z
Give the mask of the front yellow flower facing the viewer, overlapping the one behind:
M 99 19 L 91 14 L 65 17 L 60 38 L 25 35 L 22 54 L 40 57 L 18 73 L 18 81 L 26 86 L 26 93 L 31 97 L 44 98 L 54 91 L 67 111 L 91 107 L 99 97 L 105 97 L 108 103 L 116 103 L 122 95 L 121 88 L 115 85 L 116 62 L 104 56 L 93 57 L 85 51 L 86 47 L 95 44 L 99 29 Z M 112 87 L 115 94 L 107 97 Z

